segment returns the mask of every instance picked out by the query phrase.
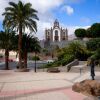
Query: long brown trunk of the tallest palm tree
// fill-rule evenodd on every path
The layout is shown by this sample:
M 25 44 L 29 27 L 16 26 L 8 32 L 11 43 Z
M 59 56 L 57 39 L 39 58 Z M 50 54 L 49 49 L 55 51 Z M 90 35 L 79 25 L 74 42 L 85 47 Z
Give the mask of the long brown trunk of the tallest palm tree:
M 22 25 L 19 25 L 19 40 L 18 40 L 18 53 L 19 53 L 19 69 L 22 69 Z

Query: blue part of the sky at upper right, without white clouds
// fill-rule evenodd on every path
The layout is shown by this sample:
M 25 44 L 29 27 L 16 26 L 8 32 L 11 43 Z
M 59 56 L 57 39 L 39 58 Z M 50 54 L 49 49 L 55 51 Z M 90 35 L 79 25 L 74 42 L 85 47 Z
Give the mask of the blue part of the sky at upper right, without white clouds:
M 73 9 L 71 14 L 68 14 L 66 9 L 59 11 L 64 6 L 66 6 L 66 2 L 53 12 L 55 17 L 63 24 L 70 26 L 89 26 L 95 22 L 100 22 L 100 0 L 83 0 L 79 3 L 70 3 L 67 6 Z

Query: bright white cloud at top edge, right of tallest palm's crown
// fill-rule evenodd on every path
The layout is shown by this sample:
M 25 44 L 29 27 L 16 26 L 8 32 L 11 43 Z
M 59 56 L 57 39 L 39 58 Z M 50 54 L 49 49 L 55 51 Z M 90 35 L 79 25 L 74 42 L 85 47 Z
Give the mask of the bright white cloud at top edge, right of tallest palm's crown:
M 60 6 L 64 0 L 22 0 L 23 2 L 31 2 L 33 8 L 37 9 L 39 13 L 48 12 L 55 7 Z

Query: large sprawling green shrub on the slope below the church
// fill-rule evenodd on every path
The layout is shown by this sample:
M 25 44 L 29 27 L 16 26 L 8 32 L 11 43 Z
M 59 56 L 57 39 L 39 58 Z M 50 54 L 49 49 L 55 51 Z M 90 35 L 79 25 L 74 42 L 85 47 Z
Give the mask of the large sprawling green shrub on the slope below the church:
M 87 60 L 93 53 L 88 51 L 84 44 L 79 41 L 70 43 L 67 47 L 58 51 L 58 60 L 53 63 L 45 65 L 45 68 L 59 67 L 60 65 L 65 66 L 72 62 L 74 59 Z

